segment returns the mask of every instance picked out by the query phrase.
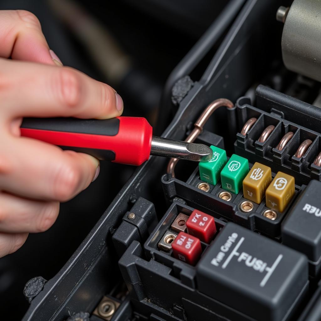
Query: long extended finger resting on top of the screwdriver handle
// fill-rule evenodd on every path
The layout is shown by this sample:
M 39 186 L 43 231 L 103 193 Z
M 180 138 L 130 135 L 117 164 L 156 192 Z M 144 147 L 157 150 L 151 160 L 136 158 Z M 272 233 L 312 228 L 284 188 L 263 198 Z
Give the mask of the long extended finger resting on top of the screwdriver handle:
M 77 70 L 5 59 L 0 59 L 0 101 L 11 118 L 106 119 L 123 111 L 110 86 Z

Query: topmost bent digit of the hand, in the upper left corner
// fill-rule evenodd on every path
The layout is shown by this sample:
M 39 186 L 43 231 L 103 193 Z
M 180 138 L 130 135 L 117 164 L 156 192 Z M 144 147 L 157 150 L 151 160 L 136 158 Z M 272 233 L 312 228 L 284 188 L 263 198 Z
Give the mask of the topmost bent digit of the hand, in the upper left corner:
M 38 18 L 25 10 L 0 11 L 0 56 L 54 65 Z

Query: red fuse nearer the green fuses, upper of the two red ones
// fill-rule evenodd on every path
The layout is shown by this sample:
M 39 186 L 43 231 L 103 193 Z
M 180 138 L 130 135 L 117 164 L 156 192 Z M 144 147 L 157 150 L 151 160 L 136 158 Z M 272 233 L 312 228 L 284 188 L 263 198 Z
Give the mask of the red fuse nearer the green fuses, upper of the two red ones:
M 194 210 L 186 222 L 189 234 L 198 237 L 201 241 L 209 243 L 216 233 L 214 217 Z

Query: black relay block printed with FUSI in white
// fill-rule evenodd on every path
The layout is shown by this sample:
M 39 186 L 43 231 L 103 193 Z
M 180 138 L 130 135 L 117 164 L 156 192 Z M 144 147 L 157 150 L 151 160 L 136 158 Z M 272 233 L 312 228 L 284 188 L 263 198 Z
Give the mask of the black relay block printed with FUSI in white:
M 262 321 L 288 317 L 308 284 L 307 258 L 227 223 L 197 265 L 198 290 Z

